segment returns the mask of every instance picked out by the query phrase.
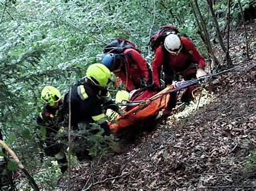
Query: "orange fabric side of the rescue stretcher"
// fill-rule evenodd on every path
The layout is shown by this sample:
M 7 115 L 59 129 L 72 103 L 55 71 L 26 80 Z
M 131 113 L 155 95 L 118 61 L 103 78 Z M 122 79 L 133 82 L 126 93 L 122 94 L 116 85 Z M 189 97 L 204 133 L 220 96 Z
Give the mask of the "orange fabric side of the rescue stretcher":
M 151 98 L 159 96 L 156 100 L 152 102 L 150 100 L 145 100 L 145 102 L 140 103 L 133 109 L 127 111 L 123 116 L 118 115 L 116 121 L 109 123 L 110 129 L 119 130 L 132 126 L 136 123 L 139 123 L 143 119 L 146 119 L 150 116 L 155 115 L 159 110 L 165 108 L 169 101 L 170 95 L 161 95 L 173 89 L 173 86 L 168 86 L 164 90 L 160 91 L 156 95 L 153 95 Z M 161 95 L 161 96 L 160 96 Z

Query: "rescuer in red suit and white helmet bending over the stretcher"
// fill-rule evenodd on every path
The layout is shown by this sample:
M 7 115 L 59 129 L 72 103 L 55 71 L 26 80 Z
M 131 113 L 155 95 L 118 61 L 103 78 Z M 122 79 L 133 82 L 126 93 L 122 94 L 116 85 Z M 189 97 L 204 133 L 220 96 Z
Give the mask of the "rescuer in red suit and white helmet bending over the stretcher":
M 179 37 L 176 33 L 167 33 L 163 43 L 154 49 L 156 53 L 152 61 L 153 83 L 160 87 L 160 70 L 163 66 L 165 84 L 172 84 L 173 80 L 178 80 L 181 75 L 184 80 L 206 75 L 204 72 L 205 60 L 198 52 L 193 43 L 185 38 Z M 199 69 L 198 69 L 199 68 Z M 199 74 L 196 76 L 196 74 Z M 181 96 L 181 102 L 190 102 L 194 87 L 186 89 Z M 164 111 L 168 116 L 171 110 L 176 106 L 177 93 L 170 94 L 170 101 Z

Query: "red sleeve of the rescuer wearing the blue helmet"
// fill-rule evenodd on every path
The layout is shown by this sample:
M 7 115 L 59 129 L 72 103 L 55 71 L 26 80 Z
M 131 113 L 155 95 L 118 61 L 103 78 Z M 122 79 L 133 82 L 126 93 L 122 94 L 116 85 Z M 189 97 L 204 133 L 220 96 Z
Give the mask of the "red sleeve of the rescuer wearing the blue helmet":
M 127 52 L 130 53 L 132 56 L 132 60 L 134 63 L 142 70 L 142 75 L 145 77 L 146 82 L 149 81 L 149 68 L 147 67 L 147 61 L 143 58 L 143 56 L 134 49 L 127 49 Z

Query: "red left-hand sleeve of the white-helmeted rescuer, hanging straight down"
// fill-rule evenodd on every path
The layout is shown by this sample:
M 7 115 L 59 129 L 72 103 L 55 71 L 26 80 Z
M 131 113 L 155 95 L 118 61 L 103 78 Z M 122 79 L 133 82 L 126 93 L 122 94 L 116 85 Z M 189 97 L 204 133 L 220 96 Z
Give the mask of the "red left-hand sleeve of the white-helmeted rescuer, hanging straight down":
M 164 63 L 164 51 L 159 46 L 156 49 L 156 55 L 154 56 L 154 59 L 152 61 L 152 77 L 153 77 L 153 83 L 155 83 L 158 87 L 160 87 L 160 69 L 161 65 Z

